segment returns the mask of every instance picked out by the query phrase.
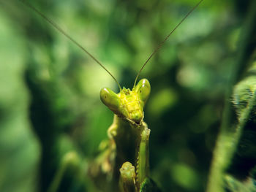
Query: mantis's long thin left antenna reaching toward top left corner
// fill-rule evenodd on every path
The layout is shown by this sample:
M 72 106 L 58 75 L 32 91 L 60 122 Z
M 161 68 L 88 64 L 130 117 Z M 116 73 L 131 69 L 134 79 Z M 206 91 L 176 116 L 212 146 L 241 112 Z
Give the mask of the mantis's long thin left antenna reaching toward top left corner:
M 26 1 L 20 0 L 23 4 L 26 5 L 26 7 L 29 7 L 29 9 L 31 9 L 32 11 L 36 12 L 38 15 L 40 15 L 44 20 L 46 20 L 48 23 L 50 23 L 50 25 L 53 26 L 53 28 L 56 28 L 57 31 L 59 31 L 61 34 L 63 34 L 65 37 L 67 37 L 67 39 L 69 39 L 71 42 L 75 43 L 75 45 L 77 45 L 78 47 L 80 47 L 80 49 L 82 49 L 87 55 L 89 55 L 97 64 L 99 64 L 99 66 L 101 66 L 103 69 L 105 69 L 106 72 L 108 72 L 108 74 L 110 74 L 111 77 L 113 77 L 113 79 L 116 81 L 118 88 L 121 91 L 121 86 L 118 83 L 118 81 L 116 80 L 116 78 L 113 76 L 113 74 L 111 74 L 108 69 L 105 68 L 105 66 L 103 66 L 98 60 L 97 58 L 94 58 L 93 55 L 91 55 L 91 53 L 89 53 L 84 47 L 82 47 L 82 45 L 80 45 L 77 41 L 75 41 L 75 39 L 73 39 L 72 37 L 69 36 L 69 34 L 67 34 L 62 28 L 60 28 L 56 23 L 53 22 L 53 20 L 50 20 L 49 18 L 47 18 L 45 15 L 42 14 L 42 12 L 40 12 L 38 9 L 36 9 L 35 7 L 33 7 L 31 4 L 29 4 Z

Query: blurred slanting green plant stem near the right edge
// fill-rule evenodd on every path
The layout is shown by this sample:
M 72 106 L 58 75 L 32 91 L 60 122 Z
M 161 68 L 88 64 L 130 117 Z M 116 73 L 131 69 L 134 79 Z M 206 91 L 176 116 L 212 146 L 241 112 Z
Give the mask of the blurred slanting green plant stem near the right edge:
M 224 174 L 227 166 L 233 157 L 241 133 L 249 118 L 253 104 L 256 100 L 255 94 L 248 101 L 247 109 L 241 114 L 236 129 L 232 125 L 233 115 L 232 105 L 230 104 L 230 97 L 233 92 L 233 85 L 241 79 L 249 67 L 249 58 L 253 53 L 255 42 L 252 42 L 252 37 L 256 34 L 256 1 L 251 1 L 250 10 L 246 16 L 244 23 L 244 30 L 241 31 L 240 46 L 238 50 L 237 62 L 234 66 L 232 77 L 230 78 L 230 85 L 227 88 L 225 108 L 222 115 L 222 125 L 220 127 L 219 137 L 214 149 L 213 160 L 211 163 L 211 171 L 208 177 L 208 192 L 223 192 L 224 190 Z M 255 40 L 255 39 L 254 39 Z

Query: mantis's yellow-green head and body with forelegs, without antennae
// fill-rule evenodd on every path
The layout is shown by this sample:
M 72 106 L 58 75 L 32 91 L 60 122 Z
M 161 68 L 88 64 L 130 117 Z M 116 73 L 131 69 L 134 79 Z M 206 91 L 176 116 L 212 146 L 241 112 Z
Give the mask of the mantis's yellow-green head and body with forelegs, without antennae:
M 127 162 L 135 165 L 135 183 L 133 188 L 140 189 L 140 184 L 148 177 L 148 138 L 150 129 L 143 121 L 143 107 L 146 104 L 150 94 L 150 84 L 148 80 L 143 79 L 130 91 L 123 88 L 116 94 L 109 88 L 102 88 L 100 99 L 112 110 L 114 115 L 113 124 L 108 128 L 108 137 L 110 138 L 110 151 L 115 153 L 111 161 L 113 165 L 112 177 L 118 177 L 118 171 L 121 169 L 121 180 L 123 185 L 131 185 L 124 175 Z M 108 155 L 108 158 L 113 155 Z M 123 175 L 123 176 L 122 176 Z M 127 187 L 125 187 L 127 188 Z M 124 189 L 124 191 L 127 191 Z

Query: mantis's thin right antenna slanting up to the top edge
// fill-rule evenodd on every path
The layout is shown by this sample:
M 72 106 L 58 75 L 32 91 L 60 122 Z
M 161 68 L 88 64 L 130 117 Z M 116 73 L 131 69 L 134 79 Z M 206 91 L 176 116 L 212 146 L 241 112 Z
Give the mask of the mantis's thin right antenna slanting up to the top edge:
M 151 53 L 151 55 L 148 57 L 148 59 L 146 60 L 146 62 L 143 64 L 143 66 L 140 68 L 140 71 L 138 72 L 136 78 L 135 78 L 135 84 L 133 85 L 133 87 L 135 88 L 136 86 L 136 82 L 138 80 L 138 77 L 140 76 L 140 72 L 143 70 L 144 66 L 146 66 L 146 64 L 148 64 L 148 61 L 153 57 L 153 55 L 155 53 L 157 53 L 157 51 L 162 47 L 162 45 L 166 42 L 166 40 L 170 37 L 171 34 L 173 34 L 174 31 L 176 31 L 176 28 L 178 28 L 178 26 L 181 25 L 181 23 L 183 23 L 183 21 L 190 15 L 190 13 L 192 13 L 197 7 L 198 5 L 202 2 L 203 0 L 200 0 L 195 7 L 193 7 L 188 13 L 187 15 L 185 15 L 185 17 L 175 26 L 175 28 L 173 28 L 172 31 L 170 31 L 170 34 L 167 35 L 167 37 L 165 37 L 165 39 L 159 43 L 159 45 L 157 46 L 157 48 L 153 51 L 153 53 Z

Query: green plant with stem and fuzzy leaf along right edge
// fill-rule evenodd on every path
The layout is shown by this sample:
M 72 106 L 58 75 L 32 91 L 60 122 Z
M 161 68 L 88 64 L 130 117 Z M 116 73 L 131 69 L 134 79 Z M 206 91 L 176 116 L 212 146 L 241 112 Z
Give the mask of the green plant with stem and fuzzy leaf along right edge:
M 226 101 L 222 116 L 222 126 L 217 146 L 214 151 L 211 174 L 209 176 L 208 191 L 255 191 L 255 175 L 251 174 L 255 169 L 256 143 L 255 143 L 255 39 L 256 32 L 256 1 L 252 1 L 246 21 L 244 33 L 241 33 L 239 54 L 235 63 L 235 70 L 230 80 L 230 88 L 227 90 L 227 99 L 231 96 L 233 83 L 238 82 L 233 91 L 233 104 Z M 252 67 L 249 72 L 249 66 Z M 243 77 L 247 72 L 248 77 Z M 252 72 L 252 74 L 250 74 Z M 225 177 L 226 174 L 231 176 Z M 234 177 L 234 178 L 233 178 Z M 250 181 L 246 182 L 249 177 Z M 248 186 L 249 185 L 249 186 Z

